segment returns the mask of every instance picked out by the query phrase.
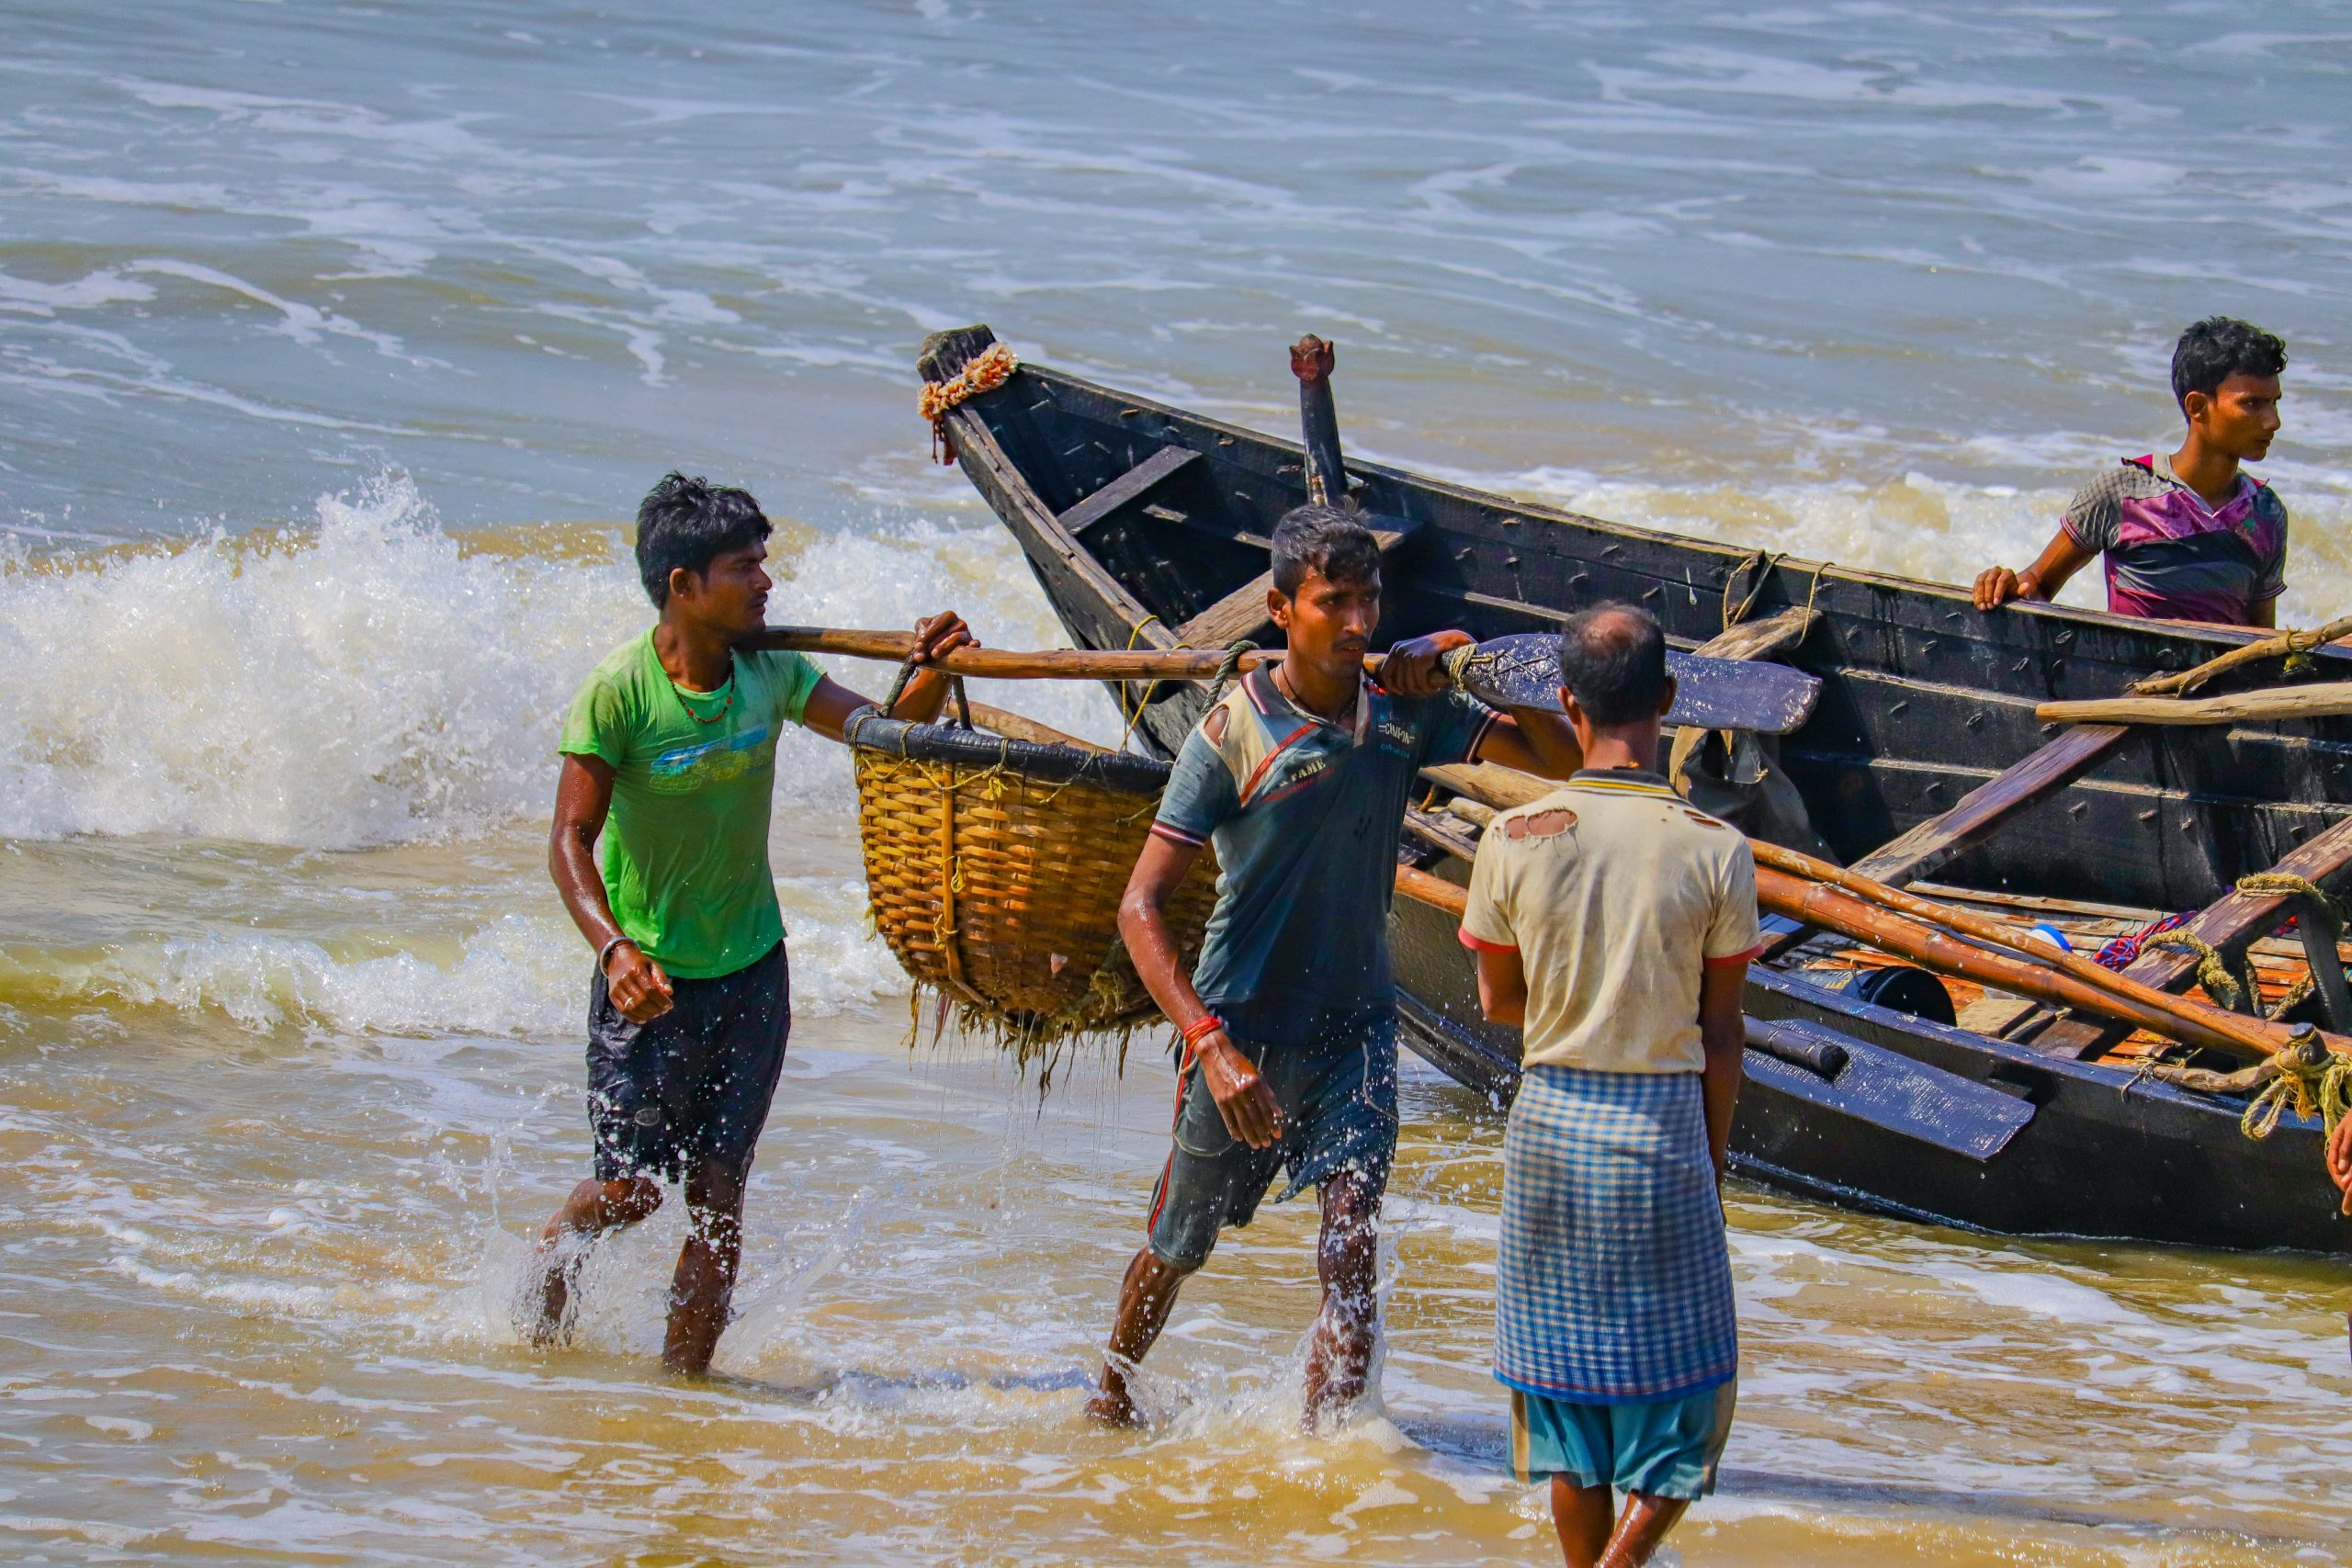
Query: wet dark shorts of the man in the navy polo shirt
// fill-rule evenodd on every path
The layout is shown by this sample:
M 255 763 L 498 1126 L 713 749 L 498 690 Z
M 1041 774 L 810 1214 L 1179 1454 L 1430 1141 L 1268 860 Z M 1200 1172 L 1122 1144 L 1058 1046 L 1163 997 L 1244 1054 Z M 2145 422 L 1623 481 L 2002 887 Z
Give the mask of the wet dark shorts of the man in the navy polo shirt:
M 1209 1260 L 1216 1232 L 1249 1225 L 1289 1166 L 1282 1197 L 1317 1187 L 1338 1171 L 1388 1190 L 1397 1157 L 1397 1016 L 1390 1011 L 1331 1018 L 1312 1046 L 1232 1041 L 1258 1065 L 1282 1105 L 1282 1140 L 1254 1150 L 1225 1131 L 1192 1053 L 1176 1070 L 1176 1147 L 1152 1190 L 1152 1258 L 1190 1274 Z M 1279 1199 L 1277 1199 L 1279 1201 Z

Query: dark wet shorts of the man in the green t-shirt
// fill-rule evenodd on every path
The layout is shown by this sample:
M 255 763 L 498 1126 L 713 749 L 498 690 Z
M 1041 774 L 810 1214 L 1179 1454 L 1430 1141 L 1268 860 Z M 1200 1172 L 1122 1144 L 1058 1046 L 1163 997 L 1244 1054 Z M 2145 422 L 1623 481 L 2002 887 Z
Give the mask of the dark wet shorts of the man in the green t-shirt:
M 750 1171 L 793 1032 L 783 943 L 731 976 L 673 978 L 670 994 L 668 1013 L 630 1023 L 602 973 L 588 987 L 588 1126 L 600 1182 L 682 1180 L 706 1159 L 739 1178 Z

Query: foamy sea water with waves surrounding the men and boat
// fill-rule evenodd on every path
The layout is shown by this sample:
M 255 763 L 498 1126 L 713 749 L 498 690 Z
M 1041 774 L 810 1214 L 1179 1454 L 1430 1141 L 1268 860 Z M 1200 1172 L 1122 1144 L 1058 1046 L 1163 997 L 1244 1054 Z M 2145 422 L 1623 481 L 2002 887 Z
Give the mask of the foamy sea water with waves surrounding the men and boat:
M 2223 310 L 2291 346 L 2314 623 L 2347 103 L 2352 14 L 2296 2 L 0 2 L 0 1559 L 1557 1561 L 1486 1378 L 1501 1124 L 1425 1070 L 1376 1410 L 1298 1434 L 1289 1204 L 1185 1291 L 1155 1425 L 1082 1422 L 1160 1041 L 1042 1103 L 910 1048 L 802 736 L 717 1375 L 656 1371 L 675 1206 L 574 1349 L 515 1340 L 588 1154 L 553 741 L 647 618 L 635 498 L 755 489 L 779 621 L 1054 644 L 927 461 L 922 334 L 1287 430 L 1312 329 L 1359 454 L 1962 578 L 2171 447 Z M 1684 1563 L 2352 1561 L 2343 1262 L 1729 1211 Z

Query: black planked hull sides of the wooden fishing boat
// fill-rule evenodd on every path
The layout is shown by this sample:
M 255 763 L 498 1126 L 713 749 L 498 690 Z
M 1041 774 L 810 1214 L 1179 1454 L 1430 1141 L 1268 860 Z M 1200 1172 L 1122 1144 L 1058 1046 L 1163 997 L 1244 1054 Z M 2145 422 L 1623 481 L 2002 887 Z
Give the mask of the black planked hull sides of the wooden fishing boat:
M 985 341 L 985 331 L 943 334 L 927 367 L 960 367 Z M 1169 628 L 1247 597 L 1237 590 L 1265 569 L 1272 520 L 1305 498 L 1296 442 L 1058 371 L 1023 369 L 969 404 L 960 430 L 967 477 L 1080 646 L 1169 646 Z M 1174 480 L 1122 491 L 1150 473 L 1138 465 L 1155 454 L 1176 458 L 1164 463 Z M 2051 726 L 2034 722 L 2037 701 L 2114 696 L 2136 675 L 2246 642 L 2223 628 L 2056 607 L 1985 616 L 1945 585 L 1759 562 L 1392 468 L 1348 470 L 1357 503 L 1402 538 L 1385 574 L 1383 635 L 1461 625 L 1501 637 L 1618 597 L 1649 604 L 1691 646 L 1722 628 L 1733 592 L 1755 590 L 1755 616 L 1816 607 L 1820 623 L 1788 663 L 1823 679 L 1820 703 L 1780 759 L 1846 858 L 1945 811 L 2042 745 Z M 2352 677 L 2340 649 L 2321 649 L 2319 665 L 2317 677 Z M 1117 696 L 1145 703 L 1136 729 L 1160 755 L 1174 755 L 1204 703 L 1197 686 Z M 2037 893 L 2197 907 L 2347 806 L 2347 719 L 2150 731 L 2004 827 L 1997 849 L 1971 851 L 1940 877 L 1999 889 L 2006 867 L 2030 865 Z M 1392 938 L 1406 1041 L 1470 1088 L 1508 1098 L 1517 1034 L 1477 1016 L 1451 922 L 1399 905 Z M 2032 1107 L 1999 1152 L 1976 1159 L 1872 1119 L 1835 1084 L 1766 1065 L 1750 1074 L 1733 1131 L 1733 1157 L 1752 1175 L 1835 1204 L 1992 1232 L 2352 1253 L 2314 1119 L 2288 1117 L 2272 1138 L 2249 1140 L 2232 1100 L 1933 1025 L 1764 966 L 1750 973 L 1748 1011 L 1893 1051 L 1943 1074 L 1936 1081 L 1962 1098 L 1999 1093 Z

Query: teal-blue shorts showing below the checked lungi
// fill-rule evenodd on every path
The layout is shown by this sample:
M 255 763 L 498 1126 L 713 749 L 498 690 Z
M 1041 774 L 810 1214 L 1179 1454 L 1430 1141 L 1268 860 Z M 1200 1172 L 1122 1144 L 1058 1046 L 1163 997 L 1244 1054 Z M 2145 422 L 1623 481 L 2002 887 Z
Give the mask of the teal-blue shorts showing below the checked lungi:
M 1696 1502 L 1715 1490 L 1738 1382 L 1679 1399 L 1588 1406 L 1510 1392 L 1510 1472 Z

